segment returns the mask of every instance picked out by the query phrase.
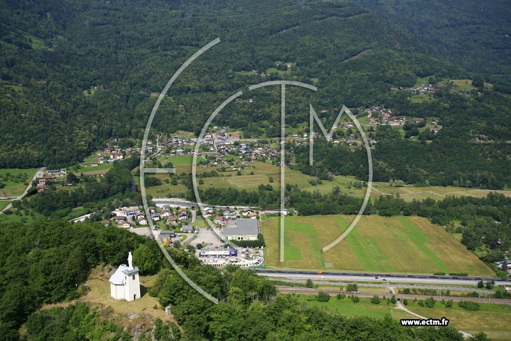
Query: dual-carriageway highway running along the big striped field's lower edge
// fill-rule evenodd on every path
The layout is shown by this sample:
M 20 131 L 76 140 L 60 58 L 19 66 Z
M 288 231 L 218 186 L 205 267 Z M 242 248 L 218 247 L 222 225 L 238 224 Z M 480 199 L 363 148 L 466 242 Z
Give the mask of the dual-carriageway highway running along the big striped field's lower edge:
M 254 269 L 261 276 L 283 277 L 290 279 L 313 279 L 323 281 L 360 281 L 360 282 L 381 282 L 381 283 L 425 283 L 425 284 L 458 284 L 458 285 L 476 285 L 477 282 L 495 281 L 496 285 L 511 286 L 511 278 L 498 277 L 474 277 L 474 276 L 436 276 L 436 275 L 405 275 L 405 274 L 377 274 L 363 272 L 335 272 L 323 271 L 318 274 L 317 271 L 307 270 L 273 270 L 273 269 Z

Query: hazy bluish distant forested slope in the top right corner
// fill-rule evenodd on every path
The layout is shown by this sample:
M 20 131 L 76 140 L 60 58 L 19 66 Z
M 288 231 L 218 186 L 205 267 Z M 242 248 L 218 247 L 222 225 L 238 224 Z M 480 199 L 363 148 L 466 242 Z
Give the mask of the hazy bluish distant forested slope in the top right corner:
M 511 9 L 505 0 L 360 0 L 423 42 L 431 54 L 464 69 L 491 75 L 493 81 L 511 78 Z

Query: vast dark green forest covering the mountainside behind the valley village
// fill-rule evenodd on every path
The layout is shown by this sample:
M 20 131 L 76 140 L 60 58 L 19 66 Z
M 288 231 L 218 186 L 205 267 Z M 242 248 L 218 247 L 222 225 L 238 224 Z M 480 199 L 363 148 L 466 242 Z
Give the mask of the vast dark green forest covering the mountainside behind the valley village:
M 464 8 L 454 2 L 452 16 L 461 18 L 463 11 L 479 16 L 479 6 L 470 3 Z M 376 134 L 374 158 L 384 171 L 395 173 L 393 178 L 415 181 L 417 176 L 410 170 L 420 168 L 426 177 L 451 184 L 453 178 L 459 178 L 456 173 L 474 180 L 475 171 L 480 169 L 489 179 L 481 184 L 492 182 L 488 188 L 510 184 L 511 151 L 506 143 L 510 132 L 505 112 L 511 104 L 507 95 L 497 91 L 506 92 L 505 77 L 498 79 L 503 82 L 500 87 L 497 82 L 493 90 L 481 88 L 481 95 L 463 97 L 445 92 L 435 94 L 436 100 L 427 103 L 410 103 L 406 94 L 390 89 L 412 86 L 417 77 L 428 76 L 496 82 L 491 71 L 509 64 L 499 57 L 508 56 L 505 47 L 499 50 L 505 37 L 491 40 L 486 39 L 490 33 L 484 33 L 485 41 L 493 44 L 491 49 L 464 49 L 463 58 L 472 58 L 472 63 L 479 60 L 474 58 L 497 63 L 477 63 L 493 65 L 492 70 L 478 70 L 451 55 L 432 53 L 432 48 L 441 50 L 442 44 L 422 42 L 417 39 L 419 33 L 405 29 L 404 24 L 394 26 L 394 17 L 384 15 L 389 22 L 378 16 L 383 15 L 381 11 L 371 13 L 363 7 L 374 10 L 371 2 L 287 5 L 248 1 L 236 5 L 220 1 L 3 3 L 0 167 L 74 164 L 107 139 L 142 137 L 156 100 L 150 94 L 160 92 L 199 47 L 220 37 L 222 42 L 194 61 L 170 88 L 153 122 L 154 131 L 198 133 L 213 109 L 239 89 L 246 92 L 250 84 L 292 79 L 313 83 L 319 90 L 315 94 L 288 90 L 286 122 L 291 126 L 308 120 L 309 102 L 332 109 L 320 114 L 325 124 L 333 121 L 342 105 L 383 105 L 407 117 L 439 117 L 444 126 L 441 133 L 421 136 L 433 140 L 427 146 L 385 131 Z M 396 2 L 396 6 L 405 5 Z M 413 6 L 421 7 L 419 2 Z M 434 6 L 443 5 L 434 2 Z M 493 10 L 500 8 L 501 2 L 495 6 Z M 191 18 L 187 19 L 189 12 Z M 477 27 L 503 34 L 509 22 L 502 19 L 506 13 L 502 11 L 498 20 L 485 16 Z M 449 34 L 452 44 L 461 44 L 464 40 L 459 27 L 464 26 L 452 27 L 442 31 L 439 25 L 434 35 L 443 39 Z M 351 58 L 362 51 L 366 53 Z M 283 62 L 292 63 L 290 73 L 272 72 L 266 77 L 238 73 L 262 73 Z M 467 66 L 469 72 L 460 65 Z M 13 87 L 18 84 L 22 87 Z M 244 95 L 220 113 L 218 122 L 278 136 L 278 91 L 259 89 Z M 248 96 L 254 99 L 250 105 L 243 100 Z M 421 160 L 414 157 L 417 154 L 423 156 Z M 360 173 L 350 167 L 342 171 Z M 376 175 L 381 179 L 389 176 L 381 172 Z

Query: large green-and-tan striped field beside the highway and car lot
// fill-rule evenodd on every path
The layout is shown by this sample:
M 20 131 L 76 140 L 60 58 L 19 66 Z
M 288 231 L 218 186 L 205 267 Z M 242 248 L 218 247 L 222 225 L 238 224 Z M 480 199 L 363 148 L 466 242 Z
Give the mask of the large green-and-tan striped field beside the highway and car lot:
M 488 266 L 441 226 L 421 217 L 362 216 L 344 240 L 323 253 L 321 249 L 339 237 L 354 217 L 286 217 L 284 263 L 280 263 L 280 218 L 262 221 L 266 265 L 327 269 L 325 263 L 331 263 L 336 270 L 492 276 Z

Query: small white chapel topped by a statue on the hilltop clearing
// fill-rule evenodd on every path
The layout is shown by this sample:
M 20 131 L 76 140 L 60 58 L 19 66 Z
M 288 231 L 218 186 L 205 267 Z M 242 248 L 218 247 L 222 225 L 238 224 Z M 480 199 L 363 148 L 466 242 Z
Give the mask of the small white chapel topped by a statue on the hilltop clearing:
M 133 256 L 128 254 L 128 266 L 119 265 L 110 277 L 110 294 L 116 300 L 133 301 L 140 299 L 140 276 L 138 268 L 133 266 Z

